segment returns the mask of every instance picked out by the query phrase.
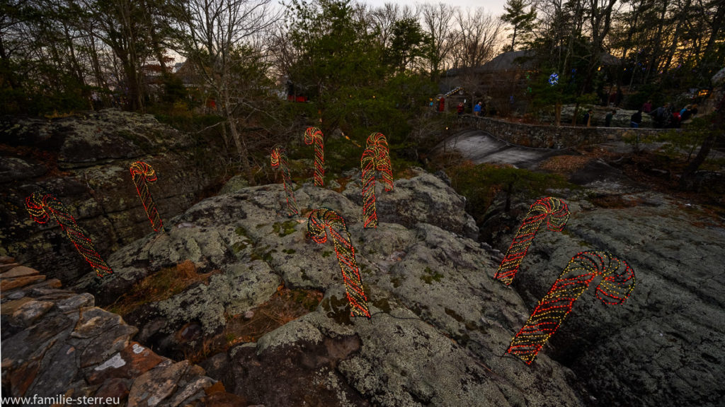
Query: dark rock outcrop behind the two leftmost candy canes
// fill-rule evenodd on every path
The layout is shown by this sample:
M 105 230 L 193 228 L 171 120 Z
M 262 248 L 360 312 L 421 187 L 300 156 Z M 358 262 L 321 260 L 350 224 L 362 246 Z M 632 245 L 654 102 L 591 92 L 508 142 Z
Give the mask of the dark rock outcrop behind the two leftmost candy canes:
M 151 185 L 162 219 L 198 201 L 220 166 L 214 146 L 115 109 L 59 119 L 0 119 L 0 255 L 12 255 L 64 282 L 90 269 L 54 219 L 33 222 L 25 198 L 47 191 L 88 232 L 101 256 L 152 232 L 130 177 L 134 161 L 154 167 Z

